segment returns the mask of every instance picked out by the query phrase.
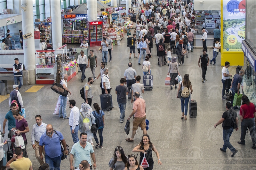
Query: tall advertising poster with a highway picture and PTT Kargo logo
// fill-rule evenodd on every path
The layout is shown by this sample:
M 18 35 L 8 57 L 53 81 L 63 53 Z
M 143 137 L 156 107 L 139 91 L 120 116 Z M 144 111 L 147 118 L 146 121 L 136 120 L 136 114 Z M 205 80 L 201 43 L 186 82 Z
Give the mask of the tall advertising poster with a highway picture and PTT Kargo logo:
M 223 0 L 223 51 L 242 52 L 245 0 Z

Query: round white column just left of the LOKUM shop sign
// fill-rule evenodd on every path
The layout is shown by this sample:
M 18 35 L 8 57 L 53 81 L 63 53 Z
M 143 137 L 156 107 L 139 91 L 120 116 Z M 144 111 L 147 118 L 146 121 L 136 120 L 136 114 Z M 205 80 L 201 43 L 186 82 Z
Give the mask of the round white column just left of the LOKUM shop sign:
M 51 0 L 52 14 L 52 48 L 57 49 L 62 46 L 60 1 Z

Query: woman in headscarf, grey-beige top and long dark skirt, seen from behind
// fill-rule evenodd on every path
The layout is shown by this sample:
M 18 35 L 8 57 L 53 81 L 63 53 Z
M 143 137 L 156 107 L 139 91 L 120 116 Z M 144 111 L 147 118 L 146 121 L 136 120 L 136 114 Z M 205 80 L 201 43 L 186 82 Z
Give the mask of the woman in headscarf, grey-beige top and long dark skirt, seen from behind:
M 178 84 L 178 81 L 175 80 L 175 78 L 179 75 L 180 76 L 180 72 L 179 72 L 179 67 L 178 67 L 178 63 L 176 62 L 176 57 L 172 57 L 172 61 L 170 63 L 170 66 L 169 66 L 169 70 L 168 70 L 168 73 L 167 75 L 170 74 L 170 77 L 171 77 L 171 81 L 170 81 L 170 85 L 171 85 L 171 90 L 172 90 L 172 86 L 175 84 L 175 89 L 177 88 L 177 84 Z

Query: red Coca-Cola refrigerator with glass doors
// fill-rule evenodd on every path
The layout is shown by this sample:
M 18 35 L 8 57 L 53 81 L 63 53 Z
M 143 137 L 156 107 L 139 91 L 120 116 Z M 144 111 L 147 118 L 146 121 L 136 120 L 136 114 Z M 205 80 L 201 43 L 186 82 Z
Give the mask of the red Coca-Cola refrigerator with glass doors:
M 90 46 L 100 46 L 103 39 L 102 35 L 103 21 L 88 21 Z

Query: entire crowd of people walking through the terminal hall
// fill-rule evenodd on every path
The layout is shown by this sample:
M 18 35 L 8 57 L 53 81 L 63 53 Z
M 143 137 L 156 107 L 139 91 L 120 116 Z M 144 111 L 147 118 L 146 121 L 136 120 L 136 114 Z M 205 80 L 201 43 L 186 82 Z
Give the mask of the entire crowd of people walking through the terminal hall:
M 132 52 L 134 54 L 134 59 L 138 59 L 138 64 L 142 65 L 141 69 L 144 76 L 151 75 L 151 63 L 149 59 L 152 57 L 152 48 L 156 49 L 156 54 L 158 56 L 159 66 L 164 66 L 168 64 L 167 76 L 171 78 L 168 85 L 170 89 L 173 86 L 177 90 L 177 98 L 181 101 L 181 119 L 187 120 L 188 115 L 188 103 L 191 100 L 191 94 L 193 93 L 192 82 L 189 79 L 189 74 L 184 74 L 181 78 L 179 71 L 180 65 L 184 65 L 184 59 L 189 57 L 189 50 L 193 52 L 193 41 L 195 28 L 195 13 L 193 12 L 194 4 L 193 2 L 182 2 L 177 1 L 162 1 L 159 5 L 159 0 L 155 1 L 156 4 L 151 3 L 149 8 L 144 12 L 140 10 L 140 21 L 137 21 L 135 33 L 132 37 L 129 30 L 128 36 L 128 47 L 130 48 L 129 60 L 131 61 Z M 134 11 L 131 11 L 131 18 L 136 21 L 137 16 L 133 15 Z M 181 20 L 182 18 L 183 21 Z M 146 24 L 146 19 L 149 21 Z M 202 43 L 204 49 L 202 54 L 199 55 L 198 66 L 202 69 L 202 83 L 206 80 L 206 71 L 209 63 L 213 65 L 216 64 L 216 57 L 219 53 L 221 44 L 220 39 L 217 34 L 220 33 L 219 29 L 216 28 L 214 34 L 216 33 L 216 39 L 213 43 L 213 58 L 210 60 L 207 54 L 207 32 L 202 29 Z M 215 35 L 214 35 L 215 37 Z M 136 42 L 137 41 L 137 42 Z M 153 46 L 155 41 L 156 48 Z M 131 43 L 129 43 L 131 42 Z M 136 57 L 136 44 L 138 50 L 138 57 Z M 81 44 L 82 46 L 82 44 Z M 88 47 L 88 44 L 87 46 Z M 31 143 L 32 148 L 35 150 L 35 158 L 40 164 L 39 170 L 60 170 L 61 161 L 66 159 L 69 155 L 70 170 L 89 170 L 96 169 L 96 156 L 94 154 L 95 148 L 103 148 L 103 129 L 105 126 L 105 113 L 103 109 L 108 110 L 108 108 L 100 108 L 100 105 L 96 102 L 92 102 L 92 88 L 94 80 L 100 78 L 100 88 L 101 95 L 108 95 L 112 103 L 112 94 L 110 86 L 110 76 L 108 75 L 109 69 L 105 67 L 107 62 L 112 61 L 112 50 L 113 43 L 108 35 L 103 38 L 101 42 L 100 52 L 102 53 L 102 62 L 100 63 L 100 73 L 96 77 L 95 69 L 98 67 L 97 56 L 94 55 L 94 51 L 90 50 L 90 55 L 87 57 L 84 52 L 81 51 L 78 56 L 78 65 L 82 71 L 81 81 L 83 82 L 86 78 L 84 72 L 86 68 L 91 68 L 92 77 L 87 78 L 87 83 L 84 85 L 81 97 L 84 99 L 84 103 L 81 104 L 80 109 L 76 106 L 76 101 L 73 99 L 68 100 L 67 96 L 60 95 L 60 110 L 59 118 L 68 120 L 70 126 L 70 133 L 73 139 L 72 148 L 68 147 L 66 140 L 64 139 L 62 133 L 53 129 L 52 124 L 46 124 L 43 122 L 43 116 L 35 116 L 35 124 L 28 125 L 26 121 L 26 114 L 24 109 L 24 104 L 22 100 L 21 93 L 19 91 L 22 86 L 22 63 L 19 63 L 19 59 L 15 58 L 13 65 L 13 72 L 15 78 L 15 85 L 13 85 L 13 91 L 10 94 L 9 105 L 10 110 L 5 115 L 3 123 L 3 134 L 5 132 L 6 122 L 8 121 L 8 138 L 11 139 L 11 147 L 13 150 L 13 156 L 8 160 L 5 166 L 3 166 L 3 146 L 7 144 L 7 140 L 4 141 L 3 137 L 0 136 L 0 166 L 1 169 L 12 168 L 17 170 L 32 170 L 31 161 L 28 159 L 28 153 L 26 150 L 28 144 L 28 137 L 26 133 L 30 130 L 31 133 Z M 108 61 L 108 52 L 110 59 Z M 143 62 L 141 62 L 141 57 L 143 55 Z M 177 56 L 176 56 L 177 55 Z M 167 56 L 167 60 L 166 60 Z M 87 63 L 88 58 L 88 63 Z M 142 64 L 141 64 L 142 63 Z M 115 94 L 117 96 L 117 103 L 120 110 L 120 123 L 132 121 L 132 131 L 131 137 L 126 138 L 127 142 L 134 142 L 134 136 L 137 129 L 143 132 L 143 136 L 138 145 L 136 145 L 132 152 L 138 152 L 139 158 L 135 154 L 125 155 L 124 147 L 116 146 L 113 147 L 113 156 L 109 161 L 109 169 L 120 169 L 120 170 L 152 170 L 154 167 L 153 152 L 155 152 L 157 157 L 157 164 L 162 165 L 160 154 L 156 149 L 156 146 L 151 141 L 147 130 L 147 114 L 146 114 L 146 101 L 143 99 L 144 94 L 144 83 L 141 84 L 141 76 L 137 73 L 139 70 L 132 68 L 133 63 L 128 63 L 128 68 L 124 72 L 124 78 L 120 78 L 120 85 L 115 88 Z M 228 79 L 232 77 L 228 71 L 229 62 L 225 63 L 222 69 L 222 99 L 225 99 L 225 90 L 227 89 Z M 140 70 L 141 72 L 141 70 Z M 142 73 L 141 72 L 141 73 Z M 231 90 L 233 95 L 240 93 L 240 86 L 242 85 L 243 76 L 245 74 L 244 70 L 240 70 L 238 74 L 234 75 L 231 82 Z M 144 81 L 144 76 L 142 81 Z M 68 89 L 67 85 L 68 75 L 63 74 L 63 79 L 60 84 L 63 86 L 70 95 L 71 91 Z M 86 80 L 86 79 L 85 79 Z M 20 82 L 20 85 L 19 85 Z M 227 90 L 226 90 L 227 92 Z M 113 93 L 113 92 L 112 92 Z M 129 111 L 127 120 L 125 120 L 125 111 L 127 105 L 127 99 L 132 103 L 132 111 Z M 68 105 L 67 105 L 68 103 Z M 229 138 L 234 129 L 238 130 L 238 117 L 236 111 L 233 107 L 232 102 L 226 103 L 226 111 L 223 113 L 221 119 L 214 124 L 216 128 L 222 123 L 223 128 L 223 141 L 224 144 L 220 148 L 220 151 L 226 152 L 227 148 L 232 152 L 231 157 L 235 156 L 238 152 L 236 148 L 232 146 L 229 142 Z M 71 109 L 69 116 L 67 116 L 66 108 L 67 106 Z M 26 107 L 26 105 L 25 105 Z M 102 105 L 101 105 L 102 107 Z M 112 106 L 110 106 L 112 109 Z M 246 95 L 242 96 L 242 106 L 240 107 L 240 122 L 241 122 L 241 137 L 238 144 L 245 145 L 245 134 L 246 129 L 250 131 L 252 139 L 252 148 L 256 149 L 256 132 L 255 132 L 255 122 L 256 122 L 256 109 L 252 102 L 248 99 Z M 196 117 L 196 116 L 195 116 Z M 30 127 L 30 128 L 29 128 Z M 2 128 L 2 127 L 1 127 Z M 0 128 L 0 129 L 1 129 Z M 80 135 L 78 135 L 80 131 Z M 97 137 L 97 132 L 98 136 Z M 21 136 L 24 142 L 24 146 L 16 146 L 15 141 L 18 136 Z M 98 139 L 99 138 L 99 139 Z M 93 140 L 95 144 L 93 144 Z M 9 147 L 8 147 L 9 150 Z M 98 161 L 98 160 L 97 160 Z M 74 162 L 74 163 L 73 163 Z M 66 168 L 68 169 L 68 168 Z M 161 169 L 161 166 L 157 166 L 155 169 Z

